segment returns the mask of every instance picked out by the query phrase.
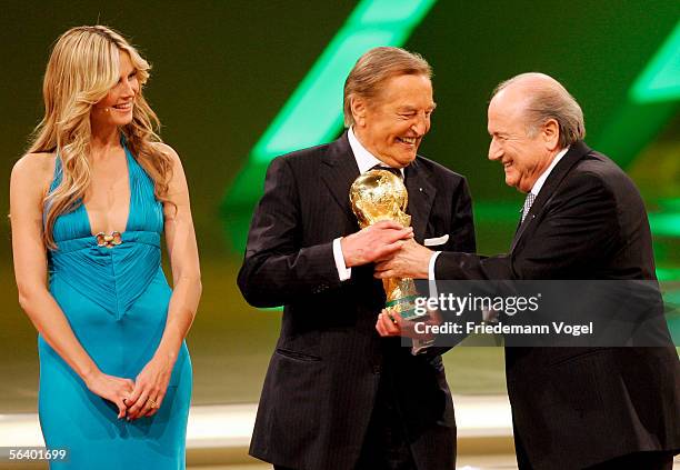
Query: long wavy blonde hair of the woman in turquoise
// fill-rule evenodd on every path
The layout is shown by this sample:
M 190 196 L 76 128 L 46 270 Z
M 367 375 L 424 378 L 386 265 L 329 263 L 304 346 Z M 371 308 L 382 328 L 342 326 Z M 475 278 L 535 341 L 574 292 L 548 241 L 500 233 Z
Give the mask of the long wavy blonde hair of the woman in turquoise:
M 103 26 L 78 27 L 54 44 L 47 66 L 42 94 L 44 118 L 34 130 L 29 153 L 56 152 L 61 159 L 61 183 L 46 196 L 44 242 L 56 248 L 53 229 L 60 214 L 76 209 L 91 181 L 90 111 L 120 78 L 120 52 L 130 56 L 140 86 L 149 78 L 149 63 L 118 32 Z M 132 122 L 122 127 L 127 146 L 153 180 L 156 197 L 168 202 L 171 157 L 154 142 L 160 121 L 141 93 L 134 97 Z

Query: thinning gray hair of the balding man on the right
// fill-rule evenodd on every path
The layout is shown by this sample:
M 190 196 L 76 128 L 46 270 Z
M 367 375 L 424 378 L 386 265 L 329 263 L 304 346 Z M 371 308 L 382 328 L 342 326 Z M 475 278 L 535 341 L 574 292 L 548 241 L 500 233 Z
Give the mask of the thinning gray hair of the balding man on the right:
M 526 83 L 532 78 L 541 77 L 546 80 L 540 80 L 540 84 L 537 81 L 534 81 L 536 86 Z M 527 119 L 527 133 L 530 137 L 536 136 L 536 132 L 549 119 L 554 119 L 560 129 L 558 143 L 561 149 L 583 140 L 586 122 L 583 121 L 581 107 L 569 91 L 551 77 L 534 72 L 521 73 L 496 87 L 491 98 L 518 82 L 524 82 L 522 87 L 529 90 L 527 92 L 528 101 L 524 108 L 524 117 Z

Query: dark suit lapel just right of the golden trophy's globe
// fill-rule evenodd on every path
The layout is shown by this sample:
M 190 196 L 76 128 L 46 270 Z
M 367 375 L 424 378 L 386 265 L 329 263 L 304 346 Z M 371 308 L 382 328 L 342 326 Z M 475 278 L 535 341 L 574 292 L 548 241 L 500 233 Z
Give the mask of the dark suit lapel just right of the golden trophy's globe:
M 411 216 L 413 236 L 418 242 L 422 243 L 437 189 L 430 182 L 427 171 L 418 159 L 406 169 L 406 187 L 409 192 L 407 212 Z

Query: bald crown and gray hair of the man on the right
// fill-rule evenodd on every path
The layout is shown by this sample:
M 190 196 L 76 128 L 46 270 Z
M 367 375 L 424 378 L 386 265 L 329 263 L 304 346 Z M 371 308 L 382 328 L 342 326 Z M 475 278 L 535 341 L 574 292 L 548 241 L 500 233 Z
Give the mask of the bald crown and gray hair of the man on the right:
M 521 73 L 501 82 L 491 101 L 511 101 L 523 118 L 529 136 L 551 119 L 559 127 L 559 147 L 566 148 L 586 137 L 581 107 L 562 84 L 544 73 Z

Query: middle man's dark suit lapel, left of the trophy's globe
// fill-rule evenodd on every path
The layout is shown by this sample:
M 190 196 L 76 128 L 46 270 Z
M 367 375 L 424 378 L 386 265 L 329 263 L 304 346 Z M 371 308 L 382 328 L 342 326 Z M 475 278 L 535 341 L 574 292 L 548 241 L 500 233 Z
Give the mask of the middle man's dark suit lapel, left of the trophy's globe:
M 357 159 L 347 139 L 347 132 L 328 147 L 323 163 L 321 180 L 352 224 L 356 226 L 357 218 L 349 201 L 349 190 L 359 176 L 359 167 L 357 167 Z

